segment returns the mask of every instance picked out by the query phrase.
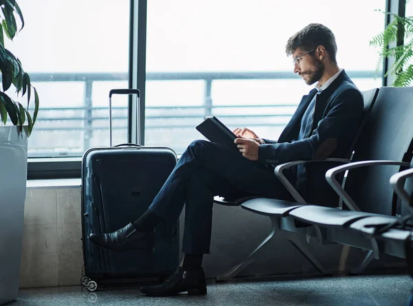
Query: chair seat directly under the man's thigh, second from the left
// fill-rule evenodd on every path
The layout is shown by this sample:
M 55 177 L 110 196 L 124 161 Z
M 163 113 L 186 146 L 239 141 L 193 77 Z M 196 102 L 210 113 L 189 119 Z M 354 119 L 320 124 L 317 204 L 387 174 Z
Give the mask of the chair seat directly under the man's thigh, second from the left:
M 280 199 L 268 199 L 265 197 L 248 199 L 248 201 L 245 201 L 241 205 L 241 207 L 246 210 L 256 212 L 260 215 L 273 217 L 285 217 L 288 215 L 288 212 L 301 206 L 301 204 L 297 204 L 296 202 L 284 201 Z

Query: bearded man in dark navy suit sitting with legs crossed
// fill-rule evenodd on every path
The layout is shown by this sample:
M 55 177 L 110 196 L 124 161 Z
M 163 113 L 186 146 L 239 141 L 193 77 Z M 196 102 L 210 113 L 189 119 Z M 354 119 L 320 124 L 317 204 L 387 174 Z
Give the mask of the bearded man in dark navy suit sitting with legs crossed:
M 286 54 L 293 56 L 294 72 L 306 84 L 317 85 L 302 98 L 279 140 L 266 140 L 248 129 L 235 129 L 240 153 L 195 140 L 145 214 L 116 232 L 93 233 L 89 239 L 114 250 L 138 248 L 160 221 L 177 220 L 185 204 L 182 267 L 163 283 L 142 287 L 141 292 L 151 296 L 206 294 L 202 255 L 209 253 L 215 195 L 292 199 L 273 174 L 274 166 L 348 155 L 361 123 L 363 96 L 346 72 L 339 69 L 336 53 L 335 36 L 324 25 L 313 23 L 291 36 Z M 293 169 L 289 179 L 304 194 L 306 168 Z

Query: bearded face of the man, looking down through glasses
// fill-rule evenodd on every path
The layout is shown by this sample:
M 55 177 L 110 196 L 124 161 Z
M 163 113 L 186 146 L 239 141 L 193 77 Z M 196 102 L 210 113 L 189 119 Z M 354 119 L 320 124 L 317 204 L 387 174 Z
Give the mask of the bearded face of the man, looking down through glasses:
M 307 51 L 297 48 L 292 54 L 294 73 L 301 76 L 307 85 L 316 83 L 324 74 L 324 63 L 317 56 L 314 56 L 315 52 L 317 51 L 313 50 L 307 53 Z

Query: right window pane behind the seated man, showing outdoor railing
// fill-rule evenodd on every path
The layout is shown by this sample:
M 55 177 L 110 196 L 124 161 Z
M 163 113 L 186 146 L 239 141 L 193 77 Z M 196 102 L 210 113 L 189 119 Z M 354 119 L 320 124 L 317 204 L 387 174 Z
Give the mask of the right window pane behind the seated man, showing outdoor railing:
M 311 89 L 284 52 L 308 23 L 335 33 L 339 67 L 359 89 L 380 87 L 369 41 L 385 17 L 375 9 L 385 1 L 148 1 L 145 144 L 180 153 L 211 114 L 277 139 Z

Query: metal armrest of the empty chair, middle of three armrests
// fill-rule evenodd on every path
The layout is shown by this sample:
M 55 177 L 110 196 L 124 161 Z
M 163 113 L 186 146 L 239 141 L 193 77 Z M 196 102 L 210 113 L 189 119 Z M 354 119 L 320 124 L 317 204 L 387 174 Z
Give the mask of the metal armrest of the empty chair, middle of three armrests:
M 379 166 L 379 165 L 392 165 L 392 166 L 406 166 L 410 167 L 408 162 L 396 162 L 392 160 L 365 160 L 363 162 L 351 162 L 350 164 L 345 164 L 342 166 L 337 166 L 326 172 L 326 180 L 328 184 L 335 190 L 337 195 L 343 199 L 344 203 L 350 208 L 350 210 L 361 211 L 361 209 L 354 203 L 350 195 L 346 193 L 346 190 L 341 187 L 336 179 L 336 175 L 354 168 L 361 168 L 366 166 Z

